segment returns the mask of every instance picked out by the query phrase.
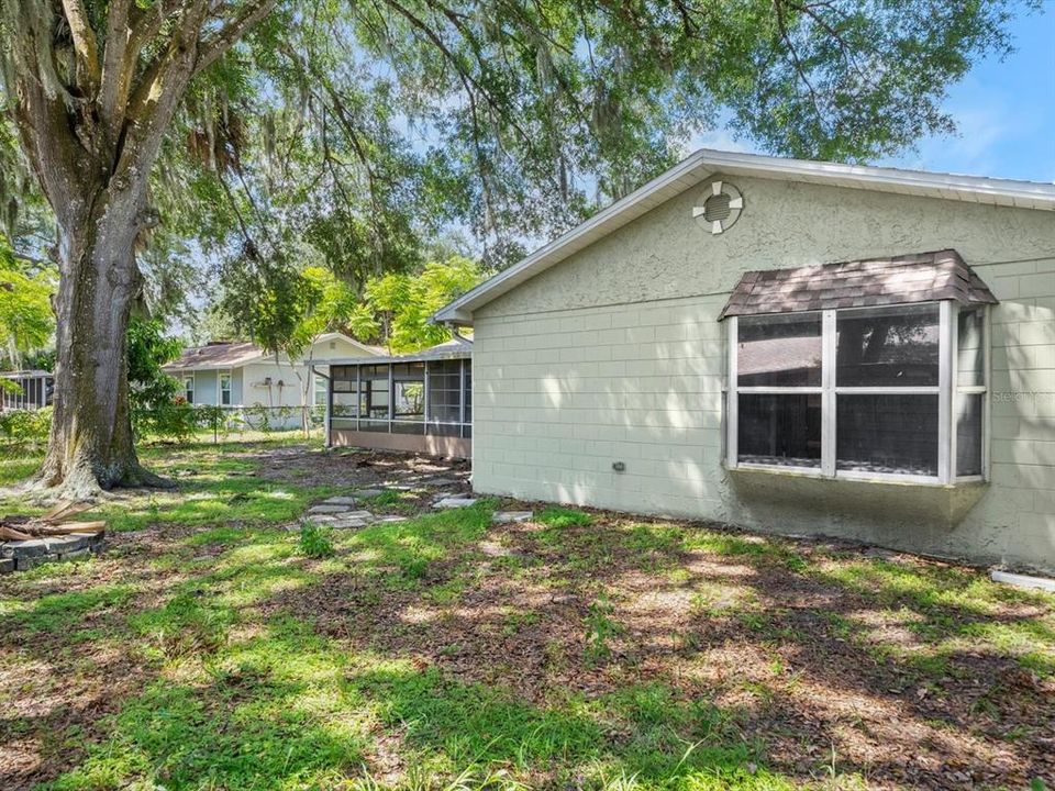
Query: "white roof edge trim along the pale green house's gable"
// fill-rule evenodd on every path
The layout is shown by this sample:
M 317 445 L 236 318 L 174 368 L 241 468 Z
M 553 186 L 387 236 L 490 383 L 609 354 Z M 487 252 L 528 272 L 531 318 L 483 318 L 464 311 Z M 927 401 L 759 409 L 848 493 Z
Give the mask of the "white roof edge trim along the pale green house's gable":
M 473 311 L 718 172 L 725 176 L 758 176 L 968 203 L 1055 211 L 1055 185 L 1051 183 L 839 165 L 702 148 L 644 187 L 602 209 L 520 263 L 454 300 L 437 311 L 433 321 L 471 324 Z

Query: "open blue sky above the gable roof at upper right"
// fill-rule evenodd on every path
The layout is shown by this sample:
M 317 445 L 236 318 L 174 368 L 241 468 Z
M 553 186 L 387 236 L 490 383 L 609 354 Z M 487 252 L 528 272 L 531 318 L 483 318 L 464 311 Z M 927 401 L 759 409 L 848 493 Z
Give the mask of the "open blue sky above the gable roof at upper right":
M 1015 52 L 979 62 L 948 91 L 955 136 L 929 137 L 917 151 L 874 165 L 1055 182 L 1055 0 L 1011 24 Z M 753 151 L 719 130 L 695 147 Z

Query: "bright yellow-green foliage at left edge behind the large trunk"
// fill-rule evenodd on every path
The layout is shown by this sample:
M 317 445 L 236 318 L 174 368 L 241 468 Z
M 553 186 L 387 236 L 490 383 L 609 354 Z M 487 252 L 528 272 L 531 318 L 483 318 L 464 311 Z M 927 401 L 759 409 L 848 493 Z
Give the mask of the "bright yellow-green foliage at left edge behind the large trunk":
M 51 298 L 57 283 L 54 268 L 37 267 L 34 271 L 23 266 L 8 237 L 0 232 L 0 339 L 4 353 L 13 349 L 16 355 L 10 359 L 12 366 L 20 367 L 18 355 L 38 349 L 51 341 L 55 332 Z

